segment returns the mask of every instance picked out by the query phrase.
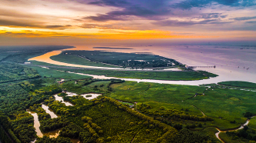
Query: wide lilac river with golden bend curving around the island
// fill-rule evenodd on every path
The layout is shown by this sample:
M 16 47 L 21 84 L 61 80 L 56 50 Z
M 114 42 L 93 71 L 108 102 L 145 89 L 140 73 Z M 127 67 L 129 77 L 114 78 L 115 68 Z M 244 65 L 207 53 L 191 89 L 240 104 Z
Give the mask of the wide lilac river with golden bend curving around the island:
M 96 45 L 95 45 L 96 47 Z M 256 49 L 255 48 L 243 48 L 238 46 L 112 46 L 113 48 L 133 48 L 133 49 L 103 49 L 109 52 L 127 52 L 127 53 L 140 53 L 151 52 L 155 55 L 161 55 L 166 58 L 173 58 L 184 65 L 190 66 L 204 66 L 204 65 L 216 65 L 216 68 L 196 68 L 197 70 L 210 71 L 219 75 L 216 78 L 209 78 L 200 81 L 162 81 L 162 80 L 148 80 L 148 79 L 124 79 L 126 81 L 146 81 L 157 82 L 163 84 L 177 84 L 177 85 L 202 85 L 217 83 L 220 81 L 250 81 L 256 83 Z M 76 48 L 69 48 L 66 50 L 96 50 L 93 46 L 76 46 Z M 99 50 L 99 48 L 97 48 Z M 29 60 L 35 60 L 39 62 L 47 62 L 54 65 L 66 65 L 81 68 L 103 68 L 93 67 L 86 65 L 73 65 L 63 62 L 56 62 L 50 59 L 52 55 L 59 55 L 62 51 L 54 51 L 46 53 Z M 239 68 L 238 68 L 239 67 Z M 116 69 L 116 68 L 108 68 Z M 119 68 L 120 69 L 120 68 Z M 96 76 L 94 76 L 96 77 Z M 98 78 L 106 78 L 104 76 Z

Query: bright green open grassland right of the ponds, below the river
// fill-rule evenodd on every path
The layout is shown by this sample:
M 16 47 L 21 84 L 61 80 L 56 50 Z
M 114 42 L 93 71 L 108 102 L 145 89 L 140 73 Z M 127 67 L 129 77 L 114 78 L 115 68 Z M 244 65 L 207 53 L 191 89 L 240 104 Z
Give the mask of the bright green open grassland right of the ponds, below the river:
M 133 81 L 111 85 L 111 88 L 113 92 L 109 97 L 137 101 L 138 104 L 143 102 L 151 105 L 152 111 L 159 110 L 161 106 L 179 110 L 188 108 L 193 115 L 202 115 L 200 111 L 203 111 L 205 115 L 214 118 L 214 124 L 209 122 L 209 126 L 214 125 L 221 130 L 239 127 L 246 121 L 243 115 L 246 111 L 256 114 L 253 91 Z M 196 93 L 197 96 L 194 97 Z M 232 124 L 231 121 L 234 120 L 236 123 Z

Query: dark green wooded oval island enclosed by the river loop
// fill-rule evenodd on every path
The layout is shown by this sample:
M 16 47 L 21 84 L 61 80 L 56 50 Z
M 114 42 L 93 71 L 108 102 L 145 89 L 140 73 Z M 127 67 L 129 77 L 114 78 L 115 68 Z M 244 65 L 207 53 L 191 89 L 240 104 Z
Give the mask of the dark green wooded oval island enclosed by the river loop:
M 79 58 L 77 58 L 79 56 Z M 99 52 L 99 51 L 66 51 L 61 55 L 51 57 L 52 60 L 59 62 L 67 62 L 80 65 L 118 65 L 126 68 L 158 68 L 158 67 L 173 67 L 180 65 L 173 59 L 164 58 L 159 55 L 146 55 L 135 53 L 120 53 L 120 52 Z M 70 60 L 67 60 L 69 59 Z M 82 62 L 79 62 L 81 58 Z M 93 63 L 96 62 L 96 63 Z M 100 64 L 98 63 L 100 62 Z M 109 65 L 107 65 L 109 66 Z

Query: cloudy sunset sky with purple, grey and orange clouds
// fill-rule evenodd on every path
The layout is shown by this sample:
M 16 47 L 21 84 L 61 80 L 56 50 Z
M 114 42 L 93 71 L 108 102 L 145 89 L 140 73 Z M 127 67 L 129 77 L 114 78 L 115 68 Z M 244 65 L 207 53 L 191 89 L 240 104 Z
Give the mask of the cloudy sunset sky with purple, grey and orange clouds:
M 0 45 L 256 44 L 256 0 L 0 0 L 0 4 Z

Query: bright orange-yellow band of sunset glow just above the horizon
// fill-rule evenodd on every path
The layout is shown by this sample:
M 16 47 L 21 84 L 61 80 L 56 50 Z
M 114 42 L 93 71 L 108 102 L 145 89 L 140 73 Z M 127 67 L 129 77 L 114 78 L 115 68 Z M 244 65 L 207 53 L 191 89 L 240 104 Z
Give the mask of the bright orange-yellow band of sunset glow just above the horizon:
M 83 29 L 63 31 L 37 28 L 8 28 L 0 27 L 0 35 L 25 38 L 49 38 L 49 37 L 72 37 L 72 38 L 96 38 L 96 39 L 153 39 L 153 38 L 217 38 L 218 36 L 207 35 L 182 35 L 179 33 L 160 30 L 102 30 L 90 29 L 83 32 Z

